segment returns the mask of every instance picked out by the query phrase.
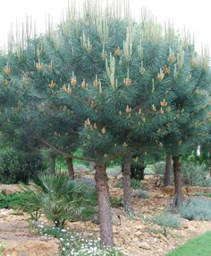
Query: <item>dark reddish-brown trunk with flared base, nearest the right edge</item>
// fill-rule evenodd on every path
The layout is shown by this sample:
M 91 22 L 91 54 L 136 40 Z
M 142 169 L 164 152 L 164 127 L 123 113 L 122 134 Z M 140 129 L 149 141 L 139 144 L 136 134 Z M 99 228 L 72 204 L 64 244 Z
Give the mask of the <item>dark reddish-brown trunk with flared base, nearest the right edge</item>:
M 174 197 L 173 208 L 181 207 L 184 200 L 181 186 L 180 156 L 173 156 Z

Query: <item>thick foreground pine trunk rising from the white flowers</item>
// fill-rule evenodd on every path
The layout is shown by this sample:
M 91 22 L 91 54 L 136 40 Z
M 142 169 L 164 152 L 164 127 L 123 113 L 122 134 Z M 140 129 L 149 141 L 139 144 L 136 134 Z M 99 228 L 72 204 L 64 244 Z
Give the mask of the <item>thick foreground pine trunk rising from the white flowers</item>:
M 114 246 L 112 212 L 105 165 L 96 164 L 95 180 L 99 210 L 100 243 L 105 246 Z

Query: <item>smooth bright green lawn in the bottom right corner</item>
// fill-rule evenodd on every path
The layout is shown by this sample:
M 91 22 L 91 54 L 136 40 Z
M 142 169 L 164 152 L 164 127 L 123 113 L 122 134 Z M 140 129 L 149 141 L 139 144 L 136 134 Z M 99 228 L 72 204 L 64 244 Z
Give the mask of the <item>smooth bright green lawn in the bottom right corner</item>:
M 211 255 L 211 232 L 202 234 L 189 242 L 181 245 L 165 256 L 210 256 Z

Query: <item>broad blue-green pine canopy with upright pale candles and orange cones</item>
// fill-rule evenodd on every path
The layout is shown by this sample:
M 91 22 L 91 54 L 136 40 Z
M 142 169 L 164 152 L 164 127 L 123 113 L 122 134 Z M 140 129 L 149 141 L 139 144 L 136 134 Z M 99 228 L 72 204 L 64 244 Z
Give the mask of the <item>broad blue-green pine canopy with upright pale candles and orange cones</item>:
M 188 32 L 162 30 L 145 9 L 133 20 L 129 1 L 99 3 L 72 4 L 56 29 L 11 42 L 0 62 L 4 118 L 16 102 L 13 128 L 103 163 L 209 139 L 207 51 L 199 56 Z

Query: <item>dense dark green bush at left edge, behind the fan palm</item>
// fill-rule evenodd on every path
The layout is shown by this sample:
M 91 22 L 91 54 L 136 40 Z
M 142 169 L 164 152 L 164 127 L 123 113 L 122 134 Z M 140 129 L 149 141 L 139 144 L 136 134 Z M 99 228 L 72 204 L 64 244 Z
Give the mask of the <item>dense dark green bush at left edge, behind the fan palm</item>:
M 43 171 L 42 158 L 24 151 L 4 147 L 0 150 L 0 183 L 27 182 Z

